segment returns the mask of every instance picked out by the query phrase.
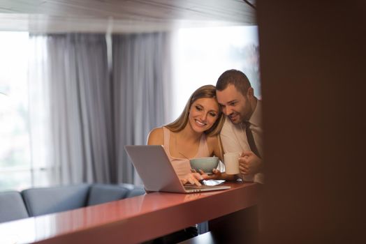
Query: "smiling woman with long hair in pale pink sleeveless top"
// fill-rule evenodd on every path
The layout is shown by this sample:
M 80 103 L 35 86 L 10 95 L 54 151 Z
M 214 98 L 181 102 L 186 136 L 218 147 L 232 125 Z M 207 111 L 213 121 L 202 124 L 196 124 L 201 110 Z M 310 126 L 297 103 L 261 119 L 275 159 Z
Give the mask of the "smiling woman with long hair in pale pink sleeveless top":
M 182 183 L 200 185 L 199 180 L 208 176 L 202 171 L 192 173 L 189 159 L 216 155 L 222 161 L 219 132 L 223 124 L 224 114 L 216 99 L 215 86 L 201 86 L 193 92 L 176 121 L 149 133 L 147 144 L 164 146 Z

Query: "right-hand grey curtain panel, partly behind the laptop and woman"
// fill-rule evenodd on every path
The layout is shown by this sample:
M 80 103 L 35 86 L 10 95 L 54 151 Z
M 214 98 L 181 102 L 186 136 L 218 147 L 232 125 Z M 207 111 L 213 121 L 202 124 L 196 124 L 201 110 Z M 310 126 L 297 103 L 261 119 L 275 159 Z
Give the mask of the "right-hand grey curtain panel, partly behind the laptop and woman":
M 167 123 L 170 110 L 171 36 L 112 36 L 117 181 L 140 184 L 124 145 L 146 144 L 152 128 Z

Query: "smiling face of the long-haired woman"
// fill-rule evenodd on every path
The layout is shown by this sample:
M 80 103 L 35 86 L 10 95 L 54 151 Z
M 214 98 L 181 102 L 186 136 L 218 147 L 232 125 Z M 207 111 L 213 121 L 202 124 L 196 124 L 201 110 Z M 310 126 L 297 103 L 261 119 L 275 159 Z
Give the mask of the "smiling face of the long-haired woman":
M 219 118 L 219 104 L 214 98 L 198 98 L 189 109 L 189 125 L 196 132 L 205 132 Z

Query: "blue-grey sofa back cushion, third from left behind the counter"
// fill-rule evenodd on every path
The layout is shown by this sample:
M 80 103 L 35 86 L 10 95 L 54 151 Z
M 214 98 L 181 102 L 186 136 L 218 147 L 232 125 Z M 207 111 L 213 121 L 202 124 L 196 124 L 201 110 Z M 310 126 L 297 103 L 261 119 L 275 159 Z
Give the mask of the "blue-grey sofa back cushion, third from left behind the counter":
M 124 199 L 128 192 L 129 189 L 121 185 L 94 184 L 89 190 L 87 206 Z

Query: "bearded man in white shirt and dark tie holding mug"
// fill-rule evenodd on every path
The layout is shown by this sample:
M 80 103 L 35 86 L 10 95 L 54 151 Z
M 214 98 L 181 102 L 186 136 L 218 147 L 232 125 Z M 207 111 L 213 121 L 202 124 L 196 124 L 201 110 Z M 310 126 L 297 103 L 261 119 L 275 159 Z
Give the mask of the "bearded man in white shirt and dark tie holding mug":
M 217 100 L 226 115 L 221 130 L 225 153 L 240 152 L 240 178 L 264 183 L 261 100 L 239 70 L 226 70 L 217 80 Z

